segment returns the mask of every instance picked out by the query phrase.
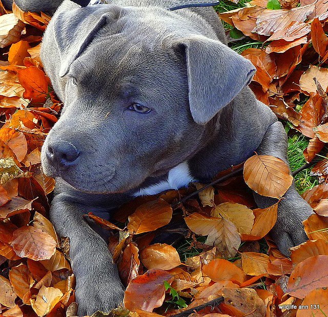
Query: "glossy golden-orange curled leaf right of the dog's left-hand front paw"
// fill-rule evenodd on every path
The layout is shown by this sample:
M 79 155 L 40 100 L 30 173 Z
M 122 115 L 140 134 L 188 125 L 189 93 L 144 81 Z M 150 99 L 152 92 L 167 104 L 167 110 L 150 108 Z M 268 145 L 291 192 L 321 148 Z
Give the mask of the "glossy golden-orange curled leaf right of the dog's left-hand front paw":
M 175 247 L 166 243 L 155 243 L 146 246 L 140 252 L 140 260 L 147 269 L 171 269 L 181 265 L 180 257 Z

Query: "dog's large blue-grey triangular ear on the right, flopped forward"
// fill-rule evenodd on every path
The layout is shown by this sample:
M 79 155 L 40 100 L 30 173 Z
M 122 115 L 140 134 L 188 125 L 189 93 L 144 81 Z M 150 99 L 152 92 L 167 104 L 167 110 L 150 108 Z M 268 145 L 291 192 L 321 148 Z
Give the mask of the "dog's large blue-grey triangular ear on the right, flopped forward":
M 194 35 L 178 45 L 185 49 L 191 114 L 196 123 L 206 124 L 251 82 L 255 67 L 205 36 Z

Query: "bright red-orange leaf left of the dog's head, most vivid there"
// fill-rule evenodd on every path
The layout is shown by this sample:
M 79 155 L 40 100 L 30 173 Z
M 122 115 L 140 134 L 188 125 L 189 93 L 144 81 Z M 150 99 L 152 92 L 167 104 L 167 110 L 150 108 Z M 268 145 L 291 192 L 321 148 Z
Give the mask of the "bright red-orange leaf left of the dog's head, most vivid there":
M 49 81 L 45 73 L 36 66 L 17 71 L 20 84 L 25 88 L 23 97 L 33 103 L 45 103 Z

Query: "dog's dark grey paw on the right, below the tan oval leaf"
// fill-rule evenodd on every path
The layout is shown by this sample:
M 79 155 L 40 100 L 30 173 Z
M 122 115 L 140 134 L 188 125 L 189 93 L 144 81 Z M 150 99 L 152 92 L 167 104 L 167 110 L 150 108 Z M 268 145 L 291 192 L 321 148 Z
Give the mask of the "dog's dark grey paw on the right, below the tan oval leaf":
M 290 248 L 306 240 L 302 221 L 313 214 L 312 208 L 300 196 L 296 199 L 283 199 L 279 203 L 278 219 L 271 231 L 280 252 L 290 255 Z

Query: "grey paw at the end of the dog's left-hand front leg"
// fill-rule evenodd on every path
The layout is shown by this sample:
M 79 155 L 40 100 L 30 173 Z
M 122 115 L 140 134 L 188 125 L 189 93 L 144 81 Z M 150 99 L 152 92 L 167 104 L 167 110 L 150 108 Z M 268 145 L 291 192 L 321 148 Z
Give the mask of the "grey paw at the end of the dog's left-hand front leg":
M 88 274 L 88 277 L 76 279 L 75 298 L 78 316 L 92 315 L 97 310 L 109 312 L 123 301 L 124 289 L 120 281 L 113 281 L 113 278 Z

